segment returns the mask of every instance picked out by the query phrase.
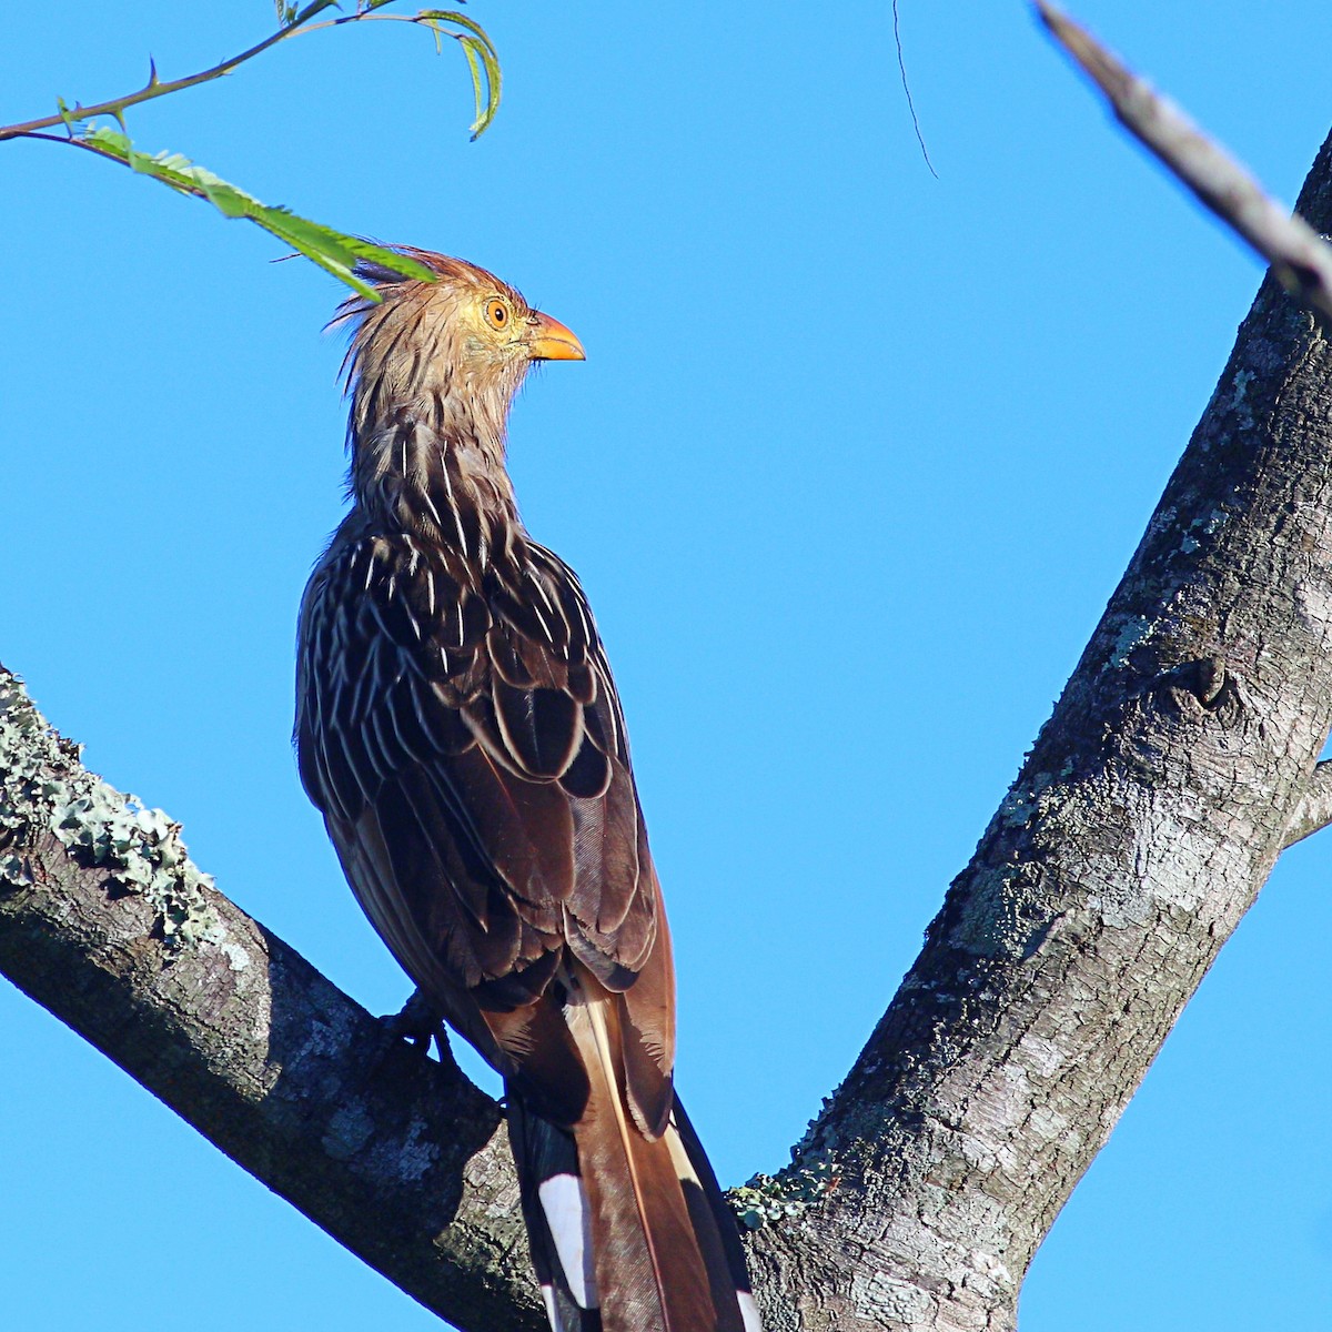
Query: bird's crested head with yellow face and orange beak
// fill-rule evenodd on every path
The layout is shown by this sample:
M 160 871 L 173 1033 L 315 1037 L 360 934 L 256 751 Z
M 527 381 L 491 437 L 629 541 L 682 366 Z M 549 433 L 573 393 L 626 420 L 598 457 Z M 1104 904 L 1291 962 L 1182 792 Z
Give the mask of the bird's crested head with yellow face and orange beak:
M 353 432 L 374 430 L 406 408 L 444 429 L 453 422 L 502 440 L 531 364 L 581 361 L 582 344 L 484 268 L 428 250 L 401 253 L 434 281 L 362 264 L 357 273 L 380 301 L 354 297 L 334 320 L 353 324 L 346 362 Z

